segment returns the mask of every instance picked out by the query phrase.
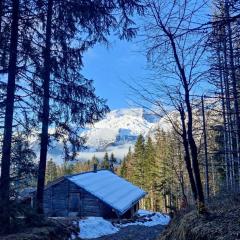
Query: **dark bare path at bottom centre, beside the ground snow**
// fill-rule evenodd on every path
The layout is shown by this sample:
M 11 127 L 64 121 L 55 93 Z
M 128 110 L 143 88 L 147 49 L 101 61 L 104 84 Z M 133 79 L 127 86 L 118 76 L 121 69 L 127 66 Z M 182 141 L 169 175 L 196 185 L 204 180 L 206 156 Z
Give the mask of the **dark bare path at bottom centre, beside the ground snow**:
M 141 225 L 121 228 L 117 233 L 94 238 L 94 240 L 156 240 L 165 226 L 146 227 Z

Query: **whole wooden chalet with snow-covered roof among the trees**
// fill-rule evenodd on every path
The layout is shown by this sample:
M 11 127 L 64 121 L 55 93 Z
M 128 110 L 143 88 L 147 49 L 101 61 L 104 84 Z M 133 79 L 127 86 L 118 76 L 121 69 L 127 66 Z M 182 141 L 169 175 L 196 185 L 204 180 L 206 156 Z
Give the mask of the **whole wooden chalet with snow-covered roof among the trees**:
M 64 176 L 44 190 L 47 216 L 131 217 L 146 195 L 139 187 L 108 170 Z

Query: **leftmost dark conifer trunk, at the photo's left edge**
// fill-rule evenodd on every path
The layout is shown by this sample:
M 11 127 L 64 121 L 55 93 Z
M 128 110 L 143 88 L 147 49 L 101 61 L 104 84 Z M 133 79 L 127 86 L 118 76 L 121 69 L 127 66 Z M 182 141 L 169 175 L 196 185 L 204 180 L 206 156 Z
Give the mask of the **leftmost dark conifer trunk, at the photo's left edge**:
M 10 38 L 10 56 L 8 64 L 8 83 L 6 109 L 4 119 L 4 134 L 2 146 L 2 165 L 1 165 L 1 213 L 3 223 L 9 225 L 9 191 L 10 191 L 10 159 L 13 128 L 13 111 L 15 97 L 15 82 L 17 75 L 17 46 L 18 46 L 18 24 L 19 24 L 19 0 L 13 1 L 12 23 Z

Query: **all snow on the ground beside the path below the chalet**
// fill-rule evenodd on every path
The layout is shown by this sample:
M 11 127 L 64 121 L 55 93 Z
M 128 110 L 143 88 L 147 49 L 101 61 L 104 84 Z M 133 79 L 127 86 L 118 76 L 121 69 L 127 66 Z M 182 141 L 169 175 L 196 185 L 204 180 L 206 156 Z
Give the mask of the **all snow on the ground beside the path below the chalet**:
M 117 233 L 121 228 L 132 225 L 141 225 L 146 227 L 153 227 L 156 225 L 167 225 L 170 221 L 168 215 L 161 213 L 154 213 L 147 210 L 139 210 L 138 216 L 141 217 L 141 221 L 135 221 L 125 224 L 117 224 L 114 226 L 110 221 L 107 221 L 101 217 L 88 217 L 79 222 L 81 239 L 98 238 L 101 236 Z M 143 221 L 144 220 L 144 221 Z

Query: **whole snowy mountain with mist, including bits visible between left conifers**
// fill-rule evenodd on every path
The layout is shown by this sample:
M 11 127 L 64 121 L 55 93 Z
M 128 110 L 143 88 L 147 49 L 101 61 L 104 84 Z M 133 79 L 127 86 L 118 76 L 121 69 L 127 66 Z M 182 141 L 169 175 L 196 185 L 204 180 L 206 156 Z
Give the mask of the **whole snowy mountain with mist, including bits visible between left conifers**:
M 133 148 L 140 134 L 144 137 L 154 136 L 160 127 L 169 130 L 170 123 L 167 118 L 159 118 L 142 108 L 125 108 L 109 112 L 104 119 L 94 125 L 86 126 L 81 136 L 86 138 L 86 149 L 77 153 L 77 159 L 89 160 L 94 155 L 102 159 L 105 152 L 114 153 L 115 157 L 122 159 L 129 148 Z M 54 129 L 49 129 L 54 132 Z M 38 134 L 33 134 L 31 146 L 39 155 Z M 61 163 L 64 159 L 63 144 L 55 142 L 48 149 L 48 159 Z

